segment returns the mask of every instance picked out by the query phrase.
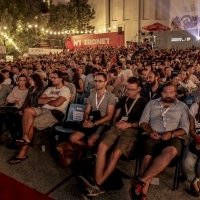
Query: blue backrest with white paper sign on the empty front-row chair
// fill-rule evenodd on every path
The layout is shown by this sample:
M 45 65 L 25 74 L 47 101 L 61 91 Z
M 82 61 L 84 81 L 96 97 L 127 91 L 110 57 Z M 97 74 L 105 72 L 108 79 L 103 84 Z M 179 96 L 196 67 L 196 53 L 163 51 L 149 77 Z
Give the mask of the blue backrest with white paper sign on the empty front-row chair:
M 83 114 L 86 105 L 71 103 L 66 121 L 81 122 L 83 120 Z

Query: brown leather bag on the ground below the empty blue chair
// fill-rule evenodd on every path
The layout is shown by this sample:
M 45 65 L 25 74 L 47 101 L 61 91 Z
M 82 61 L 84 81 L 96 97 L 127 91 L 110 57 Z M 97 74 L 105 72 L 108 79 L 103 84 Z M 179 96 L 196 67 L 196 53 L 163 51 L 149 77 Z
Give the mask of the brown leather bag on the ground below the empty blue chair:
M 56 146 L 61 167 L 68 167 L 74 161 L 79 161 L 82 158 L 82 149 L 71 142 L 62 142 Z

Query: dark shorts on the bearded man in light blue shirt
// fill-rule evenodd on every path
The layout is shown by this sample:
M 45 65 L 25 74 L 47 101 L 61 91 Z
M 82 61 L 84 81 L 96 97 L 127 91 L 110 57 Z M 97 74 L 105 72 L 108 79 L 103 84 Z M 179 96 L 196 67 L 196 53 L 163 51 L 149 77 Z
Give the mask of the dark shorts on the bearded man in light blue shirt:
M 160 141 L 150 138 L 150 136 L 147 134 L 143 135 L 141 140 L 142 140 L 142 145 L 141 145 L 142 156 L 151 155 L 154 158 L 159 154 L 161 154 L 163 149 L 165 149 L 168 146 L 175 147 L 178 152 L 177 155 L 179 156 L 183 150 L 183 144 L 184 144 L 184 140 L 178 137 L 171 138 L 170 140 L 167 141 Z

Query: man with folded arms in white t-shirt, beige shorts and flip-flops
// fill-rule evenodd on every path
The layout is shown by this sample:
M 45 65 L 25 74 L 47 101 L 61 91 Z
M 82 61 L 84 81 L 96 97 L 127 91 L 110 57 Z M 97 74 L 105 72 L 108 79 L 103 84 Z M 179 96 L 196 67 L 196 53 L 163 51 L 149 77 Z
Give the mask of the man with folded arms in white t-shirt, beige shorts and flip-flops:
M 70 91 L 63 84 L 62 72 L 54 71 L 51 80 L 54 86 L 48 87 L 38 99 L 38 104 L 43 106 L 24 110 L 23 138 L 16 141 L 22 148 L 18 155 L 9 161 L 10 164 L 18 164 L 27 158 L 26 152 L 33 138 L 34 128 L 43 130 L 58 123 L 64 117 L 71 96 Z

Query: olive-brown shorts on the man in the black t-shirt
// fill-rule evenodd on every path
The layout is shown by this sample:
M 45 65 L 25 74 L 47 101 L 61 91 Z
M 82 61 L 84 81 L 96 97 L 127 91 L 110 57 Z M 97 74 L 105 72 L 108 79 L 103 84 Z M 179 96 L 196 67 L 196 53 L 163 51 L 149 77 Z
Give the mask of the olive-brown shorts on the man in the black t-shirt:
M 115 149 L 119 149 L 127 158 L 134 151 L 138 141 L 138 129 L 127 128 L 124 130 L 112 126 L 102 137 L 102 142 L 111 148 L 115 144 Z

